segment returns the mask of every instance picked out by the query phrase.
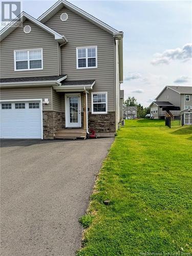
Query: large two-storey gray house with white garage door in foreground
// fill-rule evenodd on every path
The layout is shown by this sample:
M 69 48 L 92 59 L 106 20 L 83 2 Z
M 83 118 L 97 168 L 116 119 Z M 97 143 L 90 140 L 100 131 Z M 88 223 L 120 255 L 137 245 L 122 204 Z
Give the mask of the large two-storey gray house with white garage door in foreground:
M 1 31 L 1 138 L 114 136 L 123 32 L 61 0 L 19 19 Z

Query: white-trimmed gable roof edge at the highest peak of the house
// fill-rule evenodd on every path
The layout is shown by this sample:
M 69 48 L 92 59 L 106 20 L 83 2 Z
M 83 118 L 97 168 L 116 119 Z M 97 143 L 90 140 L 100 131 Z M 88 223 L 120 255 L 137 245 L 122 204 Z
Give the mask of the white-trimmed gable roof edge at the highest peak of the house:
M 111 26 L 105 24 L 101 20 L 95 18 L 91 14 L 81 10 L 80 8 L 74 6 L 73 4 L 67 2 L 66 0 L 59 0 L 58 2 L 56 2 L 50 9 L 48 9 L 45 13 L 43 13 L 40 17 L 38 17 L 38 20 L 41 23 L 46 23 L 51 17 L 53 17 L 63 7 L 66 7 L 69 10 L 73 11 L 74 13 L 80 15 L 81 17 L 89 20 L 89 22 L 95 24 L 96 26 L 100 27 L 106 32 L 113 34 L 114 36 L 123 37 L 123 32 L 120 32 L 112 28 Z

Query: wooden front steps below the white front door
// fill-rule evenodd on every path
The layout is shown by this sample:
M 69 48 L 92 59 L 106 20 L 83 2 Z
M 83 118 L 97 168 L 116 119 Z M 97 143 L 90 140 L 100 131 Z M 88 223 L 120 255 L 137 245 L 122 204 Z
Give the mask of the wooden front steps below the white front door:
M 84 129 L 62 129 L 57 130 L 55 133 L 55 139 L 86 139 L 87 132 Z

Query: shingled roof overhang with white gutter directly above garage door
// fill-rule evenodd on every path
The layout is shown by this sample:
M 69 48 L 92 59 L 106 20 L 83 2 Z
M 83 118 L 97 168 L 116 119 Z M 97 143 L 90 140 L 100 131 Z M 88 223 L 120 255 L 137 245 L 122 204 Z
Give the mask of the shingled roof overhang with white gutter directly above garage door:
M 41 77 L 22 77 L 22 78 L 2 78 L 0 79 L 0 88 L 14 87 L 38 87 L 38 86 L 60 86 L 61 81 L 65 80 L 67 75 L 60 76 L 41 76 Z

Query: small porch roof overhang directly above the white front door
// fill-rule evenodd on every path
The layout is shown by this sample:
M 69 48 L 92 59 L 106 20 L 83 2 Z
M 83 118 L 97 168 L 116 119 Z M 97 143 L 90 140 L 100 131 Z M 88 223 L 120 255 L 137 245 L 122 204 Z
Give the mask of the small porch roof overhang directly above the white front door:
M 56 92 L 83 92 L 92 90 L 95 80 L 64 81 L 61 86 L 53 86 Z

